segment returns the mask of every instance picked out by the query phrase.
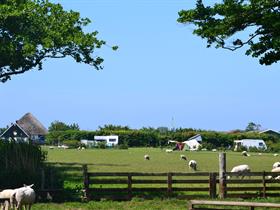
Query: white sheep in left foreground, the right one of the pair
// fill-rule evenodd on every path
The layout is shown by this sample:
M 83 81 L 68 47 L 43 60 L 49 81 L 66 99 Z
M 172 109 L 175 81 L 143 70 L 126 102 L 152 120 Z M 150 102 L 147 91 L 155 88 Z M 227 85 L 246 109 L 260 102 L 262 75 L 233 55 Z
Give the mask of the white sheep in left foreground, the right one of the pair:
M 14 190 L 11 197 L 11 203 L 16 203 L 17 209 L 22 209 L 25 206 L 25 209 L 31 209 L 31 205 L 35 202 L 35 191 L 32 189 L 32 185 L 24 185 L 24 187 L 17 188 Z M 27 208 L 28 207 L 28 208 Z

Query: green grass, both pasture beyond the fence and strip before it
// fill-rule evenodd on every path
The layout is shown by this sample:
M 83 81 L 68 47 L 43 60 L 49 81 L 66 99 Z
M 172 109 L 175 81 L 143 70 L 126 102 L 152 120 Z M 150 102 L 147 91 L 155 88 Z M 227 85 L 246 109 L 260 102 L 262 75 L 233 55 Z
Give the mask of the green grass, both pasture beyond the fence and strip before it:
M 174 151 L 166 153 L 165 149 L 159 148 L 129 148 L 128 150 L 118 149 L 49 149 L 47 162 L 65 162 L 65 163 L 90 163 L 91 172 L 191 172 L 187 163 L 189 160 L 196 160 L 198 171 L 217 172 L 219 152 L 210 151 Z M 149 154 L 151 159 L 144 160 L 144 155 Z M 188 161 L 180 160 L 180 155 L 184 154 Z M 227 152 L 227 171 L 239 164 L 248 164 L 252 171 L 270 171 L 272 164 L 280 160 L 280 157 L 274 157 L 271 153 L 250 153 L 250 157 L 244 157 L 240 152 Z M 78 175 L 77 172 L 72 172 Z M 79 171 L 81 177 L 82 171 Z M 67 182 L 65 186 L 73 187 L 77 183 Z M 235 199 L 236 200 L 236 199 Z M 241 200 L 241 199 L 239 199 Z M 263 202 L 280 202 L 279 198 L 255 199 Z M 252 201 L 252 200 L 251 200 Z M 132 201 L 117 202 L 102 200 L 99 202 L 91 201 L 89 203 L 69 202 L 63 204 L 39 203 L 34 209 L 186 209 L 187 200 L 178 200 L 176 198 L 159 198 L 144 200 L 133 198 Z M 237 208 L 238 209 L 238 208 Z

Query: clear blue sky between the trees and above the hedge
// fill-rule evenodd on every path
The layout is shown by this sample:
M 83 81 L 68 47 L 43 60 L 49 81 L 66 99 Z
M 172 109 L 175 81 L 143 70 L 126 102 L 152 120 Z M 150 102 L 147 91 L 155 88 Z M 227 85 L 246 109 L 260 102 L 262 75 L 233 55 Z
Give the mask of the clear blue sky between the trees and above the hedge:
M 115 124 L 225 131 L 250 121 L 280 130 L 279 63 L 261 66 L 244 49 L 207 49 L 192 25 L 176 22 L 178 11 L 195 1 L 52 2 L 90 18 L 86 30 L 99 31 L 119 50 L 96 52 L 105 59 L 101 71 L 71 59 L 47 60 L 42 71 L 0 84 L 0 127 L 31 112 L 46 127 L 60 120 L 86 130 Z

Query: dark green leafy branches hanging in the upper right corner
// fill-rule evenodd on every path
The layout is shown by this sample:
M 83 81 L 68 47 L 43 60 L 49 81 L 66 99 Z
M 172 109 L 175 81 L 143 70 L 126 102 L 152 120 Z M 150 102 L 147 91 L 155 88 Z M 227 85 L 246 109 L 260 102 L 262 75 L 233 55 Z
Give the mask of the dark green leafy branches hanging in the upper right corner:
M 207 39 L 207 47 L 234 51 L 247 45 L 246 55 L 260 64 L 280 60 L 279 0 L 223 0 L 212 7 L 197 0 L 195 9 L 179 12 L 178 22 L 194 24 L 193 33 Z

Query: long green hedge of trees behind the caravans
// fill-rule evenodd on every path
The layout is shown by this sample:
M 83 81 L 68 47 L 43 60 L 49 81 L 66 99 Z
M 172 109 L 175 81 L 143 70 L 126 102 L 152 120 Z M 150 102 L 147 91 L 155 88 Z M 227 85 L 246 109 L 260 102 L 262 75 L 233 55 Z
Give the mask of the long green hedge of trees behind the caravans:
M 200 134 L 202 136 L 202 147 L 212 148 L 231 148 L 234 140 L 238 139 L 263 139 L 272 151 L 280 149 L 280 136 L 260 134 L 259 132 L 217 132 L 195 129 L 100 129 L 98 131 L 51 131 L 47 135 L 48 144 L 58 144 L 67 141 L 81 139 L 93 140 L 96 135 L 118 135 L 119 145 L 128 147 L 166 147 L 168 140 L 186 141 L 188 138 Z M 279 142 L 279 146 L 278 146 Z

